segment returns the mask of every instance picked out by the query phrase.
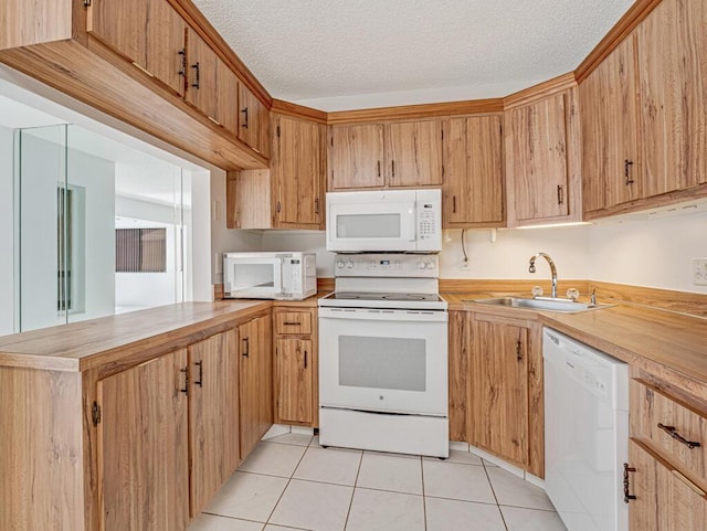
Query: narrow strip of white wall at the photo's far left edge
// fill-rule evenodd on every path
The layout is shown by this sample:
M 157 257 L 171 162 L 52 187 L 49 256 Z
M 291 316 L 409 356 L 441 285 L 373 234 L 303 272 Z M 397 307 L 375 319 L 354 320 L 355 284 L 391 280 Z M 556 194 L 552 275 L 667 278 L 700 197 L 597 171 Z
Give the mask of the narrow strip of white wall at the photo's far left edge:
M 0 336 L 14 331 L 13 135 L 0 127 Z

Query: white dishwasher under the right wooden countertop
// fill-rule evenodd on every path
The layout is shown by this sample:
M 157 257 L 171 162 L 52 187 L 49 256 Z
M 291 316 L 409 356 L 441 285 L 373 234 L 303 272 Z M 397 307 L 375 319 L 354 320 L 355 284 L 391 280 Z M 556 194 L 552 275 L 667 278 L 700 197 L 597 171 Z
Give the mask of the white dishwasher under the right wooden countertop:
M 626 531 L 627 365 L 550 328 L 545 359 L 545 488 L 568 531 Z

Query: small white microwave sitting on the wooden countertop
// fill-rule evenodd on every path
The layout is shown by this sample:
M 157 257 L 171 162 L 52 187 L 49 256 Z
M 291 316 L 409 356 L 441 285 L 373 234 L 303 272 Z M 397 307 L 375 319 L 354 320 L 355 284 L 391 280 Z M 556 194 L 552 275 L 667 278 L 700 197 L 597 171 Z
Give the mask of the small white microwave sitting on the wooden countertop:
M 302 300 L 317 293 L 314 253 L 224 253 L 223 296 Z

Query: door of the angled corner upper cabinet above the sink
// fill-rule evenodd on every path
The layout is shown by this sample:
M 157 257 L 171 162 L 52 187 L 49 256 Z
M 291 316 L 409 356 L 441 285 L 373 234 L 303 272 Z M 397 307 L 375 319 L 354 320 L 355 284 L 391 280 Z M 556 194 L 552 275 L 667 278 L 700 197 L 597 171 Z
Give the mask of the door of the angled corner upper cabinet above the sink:
M 506 172 L 518 221 L 569 214 L 567 95 L 506 111 Z

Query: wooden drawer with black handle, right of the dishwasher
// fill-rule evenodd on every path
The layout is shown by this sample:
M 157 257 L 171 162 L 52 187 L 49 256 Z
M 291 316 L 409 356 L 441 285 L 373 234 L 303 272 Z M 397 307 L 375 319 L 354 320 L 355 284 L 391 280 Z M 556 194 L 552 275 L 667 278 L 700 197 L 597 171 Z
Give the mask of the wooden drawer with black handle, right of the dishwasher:
M 648 382 L 631 381 L 631 432 L 666 458 L 707 479 L 705 412 L 667 395 Z

